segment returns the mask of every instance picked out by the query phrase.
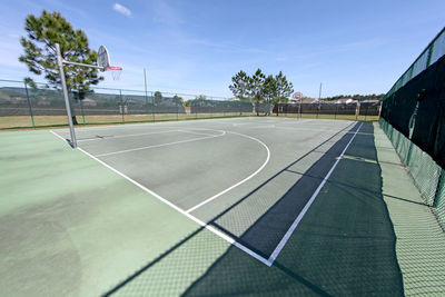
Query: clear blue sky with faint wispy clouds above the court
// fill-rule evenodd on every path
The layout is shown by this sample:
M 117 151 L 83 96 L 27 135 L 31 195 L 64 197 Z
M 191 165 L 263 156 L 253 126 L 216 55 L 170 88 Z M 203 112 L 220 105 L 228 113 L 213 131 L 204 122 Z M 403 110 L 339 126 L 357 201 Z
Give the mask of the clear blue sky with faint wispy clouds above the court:
M 10 1 L 0 10 L 0 79 L 29 76 L 18 61 L 28 13 L 57 10 L 121 80 L 99 87 L 231 97 L 230 78 L 283 71 L 295 91 L 318 97 L 386 92 L 445 26 L 445 1 Z M 43 81 L 38 79 L 38 81 Z

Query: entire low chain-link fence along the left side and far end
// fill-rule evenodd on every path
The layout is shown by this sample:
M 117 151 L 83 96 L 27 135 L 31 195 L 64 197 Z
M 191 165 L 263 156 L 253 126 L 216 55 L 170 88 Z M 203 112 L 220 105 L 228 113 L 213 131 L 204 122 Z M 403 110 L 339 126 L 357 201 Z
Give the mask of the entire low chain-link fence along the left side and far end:
M 75 125 L 156 122 L 240 116 L 289 115 L 299 117 L 375 120 L 378 102 L 360 103 L 251 103 L 224 97 L 91 88 L 69 93 Z M 44 83 L 0 80 L 0 129 L 67 126 L 61 90 Z

